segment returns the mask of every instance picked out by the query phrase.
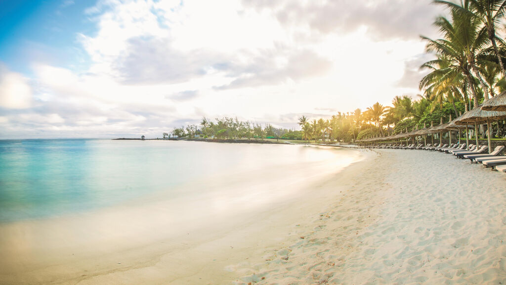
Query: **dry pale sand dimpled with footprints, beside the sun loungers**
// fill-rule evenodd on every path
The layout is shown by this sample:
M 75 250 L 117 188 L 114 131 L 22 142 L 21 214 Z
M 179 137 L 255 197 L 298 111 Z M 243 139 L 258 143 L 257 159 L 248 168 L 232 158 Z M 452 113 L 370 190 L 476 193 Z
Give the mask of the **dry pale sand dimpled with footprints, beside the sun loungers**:
M 506 283 L 506 176 L 440 153 L 379 154 L 291 244 L 237 266 L 234 284 Z

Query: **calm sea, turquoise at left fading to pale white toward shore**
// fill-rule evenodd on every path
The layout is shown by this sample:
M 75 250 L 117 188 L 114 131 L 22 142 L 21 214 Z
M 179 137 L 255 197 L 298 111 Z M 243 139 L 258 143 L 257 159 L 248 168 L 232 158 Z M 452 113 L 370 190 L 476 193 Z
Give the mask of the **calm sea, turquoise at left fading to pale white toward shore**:
M 333 167 L 349 164 L 350 157 L 336 149 L 304 146 L 0 140 L 0 222 L 86 212 L 159 193 L 199 197 L 205 189 L 185 188 L 185 184 L 220 177 L 248 184 L 251 177 L 258 181 L 280 171 L 279 175 L 300 179 L 335 171 Z

